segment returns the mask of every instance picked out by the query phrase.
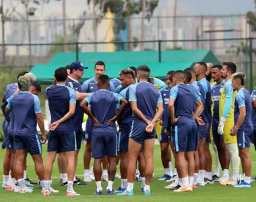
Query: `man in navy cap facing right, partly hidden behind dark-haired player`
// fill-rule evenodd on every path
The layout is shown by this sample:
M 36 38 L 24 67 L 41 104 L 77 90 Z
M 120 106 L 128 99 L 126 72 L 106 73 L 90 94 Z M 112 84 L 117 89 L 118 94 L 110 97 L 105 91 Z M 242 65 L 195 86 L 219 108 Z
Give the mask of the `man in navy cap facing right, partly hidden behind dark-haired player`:
M 67 68 L 66 68 L 67 69 Z M 88 69 L 88 67 L 84 67 L 83 64 L 79 61 L 74 61 L 69 65 L 70 73 L 66 81 L 66 86 L 69 88 L 72 88 L 75 90 L 75 99 L 76 99 L 76 108 L 75 108 L 75 114 L 74 114 L 74 124 L 75 124 L 75 138 L 77 142 L 77 155 L 75 156 L 75 165 L 77 165 L 77 157 L 79 154 L 79 150 L 82 145 L 82 137 L 83 137 L 83 129 L 82 129 L 82 123 L 84 119 L 84 113 L 82 109 L 79 107 L 79 103 L 88 96 L 88 94 L 82 92 L 82 86 L 79 83 L 79 79 L 82 79 L 84 75 L 84 69 Z M 67 157 L 65 156 L 65 153 L 61 154 L 61 160 L 62 163 L 61 166 L 61 184 L 63 186 L 67 186 Z M 86 185 L 86 182 L 80 180 L 77 178 L 77 176 L 74 176 L 74 184 L 76 185 Z

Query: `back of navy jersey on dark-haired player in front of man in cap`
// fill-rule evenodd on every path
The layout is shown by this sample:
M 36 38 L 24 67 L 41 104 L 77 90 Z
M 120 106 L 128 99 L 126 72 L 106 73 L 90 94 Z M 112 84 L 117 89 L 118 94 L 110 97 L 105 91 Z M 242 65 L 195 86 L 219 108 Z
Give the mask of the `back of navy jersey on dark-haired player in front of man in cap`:
M 46 88 L 51 112 L 51 123 L 63 118 L 69 112 L 69 103 L 75 102 L 75 91 L 67 86 L 59 85 Z M 74 116 L 59 125 L 55 131 L 74 131 Z

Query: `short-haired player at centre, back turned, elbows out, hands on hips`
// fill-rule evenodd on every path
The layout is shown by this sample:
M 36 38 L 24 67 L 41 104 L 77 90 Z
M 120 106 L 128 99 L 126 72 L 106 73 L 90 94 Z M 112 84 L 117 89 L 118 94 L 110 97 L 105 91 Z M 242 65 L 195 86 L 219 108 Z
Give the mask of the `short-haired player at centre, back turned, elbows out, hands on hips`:
M 127 100 L 119 96 L 119 94 L 110 92 L 110 80 L 107 75 L 98 77 L 98 91 L 90 94 L 80 106 L 88 116 L 92 119 L 92 158 L 94 158 L 94 176 L 96 180 L 97 190 L 94 195 L 102 195 L 101 162 L 104 156 L 107 156 L 108 167 L 108 187 L 106 194 L 113 195 L 113 182 L 117 171 L 117 128 L 115 121 L 121 115 L 123 108 L 127 105 Z M 116 111 L 116 104 L 121 104 L 120 110 Z M 91 105 L 91 110 L 88 105 Z

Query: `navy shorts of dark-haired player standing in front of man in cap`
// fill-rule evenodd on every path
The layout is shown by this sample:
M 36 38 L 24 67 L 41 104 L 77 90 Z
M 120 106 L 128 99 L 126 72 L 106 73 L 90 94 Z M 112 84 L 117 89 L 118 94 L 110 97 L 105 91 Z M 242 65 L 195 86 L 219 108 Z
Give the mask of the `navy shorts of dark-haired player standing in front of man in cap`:
M 75 132 L 50 131 L 47 151 L 77 151 Z

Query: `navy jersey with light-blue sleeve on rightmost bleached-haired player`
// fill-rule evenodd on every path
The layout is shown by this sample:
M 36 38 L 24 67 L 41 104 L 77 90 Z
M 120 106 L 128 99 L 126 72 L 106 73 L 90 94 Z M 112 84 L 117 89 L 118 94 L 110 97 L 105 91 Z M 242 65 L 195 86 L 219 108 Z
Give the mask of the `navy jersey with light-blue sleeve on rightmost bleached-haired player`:
M 240 114 L 239 108 L 242 106 L 245 106 L 246 108 L 246 115 L 240 129 L 243 131 L 253 131 L 253 123 L 251 122 L 251 95 L 245 88 L 241 88 L 241 90 L 238 91 L 234 100 L 234 125 L 236 125 Z

